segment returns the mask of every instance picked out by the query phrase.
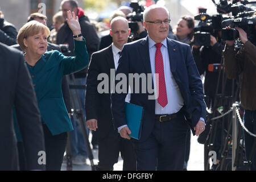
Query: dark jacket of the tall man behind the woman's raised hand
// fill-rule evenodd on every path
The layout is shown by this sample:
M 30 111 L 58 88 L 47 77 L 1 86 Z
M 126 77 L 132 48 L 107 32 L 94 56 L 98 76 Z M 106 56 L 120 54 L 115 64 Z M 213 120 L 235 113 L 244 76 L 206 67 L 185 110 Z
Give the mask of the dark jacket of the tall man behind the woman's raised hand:
M 99 44 L 99 38 L 96 33 L 95 28 L 92 24 L 86 20 L 86 16 L 82 15 L 81 18 L 79 18 L 79 23 L 81 26 L 81 32 L 82 36 L 86 40 L 86 48 L 89 54 L 89 58 L 92 55 L 93 52 L 97 51 L 98 44 Z M 73 32 L 68 27 L 67 22 L 63 24 L 63 26 L 60 27 L 59 31 L 57 32 L 57 44 L 68 44 L 69 47 L 69 53 L 66 54 L 66 56 L 74 56 L 74 40 L 73 40 Z M 87 68 L 83 69 L 80 72 L 75 73 L 75 77 L 86 77 Z

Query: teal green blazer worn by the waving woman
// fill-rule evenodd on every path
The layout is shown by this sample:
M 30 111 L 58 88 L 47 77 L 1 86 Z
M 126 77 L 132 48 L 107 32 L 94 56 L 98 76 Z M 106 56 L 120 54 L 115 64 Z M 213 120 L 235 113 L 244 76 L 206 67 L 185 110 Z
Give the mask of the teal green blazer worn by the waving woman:
M 34 85 L 42 122 L 46 123 L 52 135 L 73 130 L 61 91 L 63 75 L 84 69 L 89 62 L 85 39 L 74 39 L 73 56 L 64 56 L 59 51 L 42 55 L 34 67 L 27 64 Z

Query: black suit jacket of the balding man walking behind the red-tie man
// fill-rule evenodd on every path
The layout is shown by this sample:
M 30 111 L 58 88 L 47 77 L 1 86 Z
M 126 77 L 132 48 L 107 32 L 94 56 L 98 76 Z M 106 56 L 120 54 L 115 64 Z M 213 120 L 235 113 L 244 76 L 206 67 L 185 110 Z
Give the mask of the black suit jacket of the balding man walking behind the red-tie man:
M 97 119 L 98 129 L 96 134 L 104 138 L 110 130 L 113 130 L 112 113 L 110 109 L 110 69 L 115 70 L 112 46 L 94 52 L 90 60 L 86 79 L 85 115 L 86 120 Z M 101 80 L 97 80 L 100 73 L 108 75 L 108 93 L 98 93 L 97 86 Z

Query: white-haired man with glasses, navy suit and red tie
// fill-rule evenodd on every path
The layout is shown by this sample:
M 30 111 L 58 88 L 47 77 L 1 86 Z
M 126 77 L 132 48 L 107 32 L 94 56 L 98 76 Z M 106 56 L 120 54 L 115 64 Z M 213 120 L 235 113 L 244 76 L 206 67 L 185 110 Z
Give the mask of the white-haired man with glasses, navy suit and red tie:
M 182 170 L 187 124 L 196 135 L 205 129 L 202 82 L 190 47 L 167 38 L 169 15 L 165 7 L 147 7 L 143 24 L 148 36 L 123 47 L 116 72 L 116 76 L 125 74 L 127 80 L 129 73 L 141 77 L 153 75 L 145 76 L 146 81 L 140 79 L 137 84 L 130 85 L 133 88 L 130 102 L 144 108 L 141 139 L 131 139 L 131 131 L 126 125 L 125 88 L 128 86 L 122 85 L 123 92 L 111 96 L 114 127 L 121 137 L 131 139 L 138 170 Z M 156 98 L 148 89 L 152 88 L 152 81 Z M 145 83 L 147 90 L 143 92 Z M 115 80 L 115 85 L 120 85 L 119 80 Z M 136 93 L 138 90 L 140 93 Z

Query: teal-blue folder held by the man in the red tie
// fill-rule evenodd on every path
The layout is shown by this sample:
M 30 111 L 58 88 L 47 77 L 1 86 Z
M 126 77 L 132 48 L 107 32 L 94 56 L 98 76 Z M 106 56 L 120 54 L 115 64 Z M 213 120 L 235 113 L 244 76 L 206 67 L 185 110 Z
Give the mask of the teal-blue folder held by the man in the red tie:
M 143 107 L 125 102 L 125 114 L 127 126 L 131 130 L 129 136 L 139 140 L 141 138 Z

